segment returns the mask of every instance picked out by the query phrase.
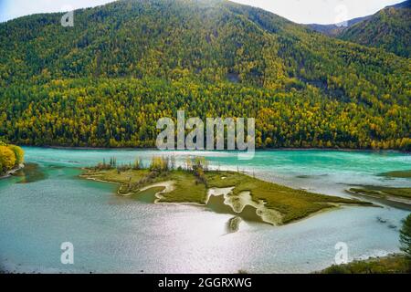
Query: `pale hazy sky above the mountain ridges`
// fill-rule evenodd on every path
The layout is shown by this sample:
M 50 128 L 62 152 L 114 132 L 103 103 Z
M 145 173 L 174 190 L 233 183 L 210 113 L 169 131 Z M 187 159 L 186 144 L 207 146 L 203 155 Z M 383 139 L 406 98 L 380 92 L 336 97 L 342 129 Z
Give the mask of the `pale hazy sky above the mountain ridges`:
M 138 1 L 138 0 L 136 0 Z M 258 6 L 297 23 L 331 24 L 367 16 L 404 0 L 234 0 Z M 0 22 L 41 12 L 68 11 L 112 0 L 0 0 Z

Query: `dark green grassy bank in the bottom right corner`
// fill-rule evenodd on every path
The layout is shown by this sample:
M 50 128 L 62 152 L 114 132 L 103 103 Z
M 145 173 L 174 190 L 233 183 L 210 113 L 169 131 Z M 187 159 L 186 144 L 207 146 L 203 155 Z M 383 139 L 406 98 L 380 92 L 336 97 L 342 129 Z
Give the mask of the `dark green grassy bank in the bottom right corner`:
M 389 255 L 346 265 L 330 266 L 321 274 L 409 274 L 410 261 L 404 255 Z

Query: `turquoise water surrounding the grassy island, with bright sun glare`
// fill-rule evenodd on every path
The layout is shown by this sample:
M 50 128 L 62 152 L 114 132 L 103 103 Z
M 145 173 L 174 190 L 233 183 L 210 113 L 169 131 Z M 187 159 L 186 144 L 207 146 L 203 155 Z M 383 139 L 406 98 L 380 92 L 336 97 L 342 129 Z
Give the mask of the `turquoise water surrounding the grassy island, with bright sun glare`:
M 9 271 L 307 273 L 332 265 L 339 242 L 350 260 L 397 252 L 398 227 L 409 214 L 387 205 L 351 206 L 279 227 L 242 222 L 237 233 L 227 233 L 230 215 L 141 203 L 116 196 L 111 183 L 78 178 L 81 167 L 103 159 L 148 162 L 157 151 L 25 151 L 38 169 L 0 180 L 0 268 Z M 252 161 L 225 151 L 173 154 L 178 163 L 201 155 L 216 169 L 346 197 L 355 184 L 411 187 L 410 180 L 378 176 L 411 169 L 411 156 L 399 152 L 258 151 Z M 74 245 L 74 265 L 60 262 L 63 242 Z

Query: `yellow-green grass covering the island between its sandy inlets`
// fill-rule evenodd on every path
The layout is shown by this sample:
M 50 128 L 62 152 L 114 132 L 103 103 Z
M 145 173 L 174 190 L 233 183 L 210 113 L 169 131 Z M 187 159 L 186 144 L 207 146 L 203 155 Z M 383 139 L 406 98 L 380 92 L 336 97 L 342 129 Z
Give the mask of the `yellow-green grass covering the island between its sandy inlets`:
M 187 171 L 164 172 L 153 179 L 144 180 L 148 175 L 149 171 L 147 170 L 120 173 L 117 170 L 90 170 L 82 176 L 89 179 L 120 183 L 119 193 L 133 193 L 136 195 L 139 195 L 143 187 L 150 186 L 153 183 L 174 181 L 174 191 L 163 193 L 163 198 L 160 200 L 163 203 L 204 204 L 207 197 L 207 189 L 234 186 L 232 196 L 237 196 L 245 191 L 250 192 L 253 201 L 256 203 L 263 201 L 266 208 L 281 214 L 280 224 L 288 224 L 340 204 L 372 205 L 372 203 L 358 200 L 294 190 L 279 184 L 264 182 L 238 172 L 205 172 L 206 184 L 199 182 L 194 173 Z M 156 188 L 155 191 L 159 192 L 161 189 Z M 146 190 L 141 193 L 144 201 L 151 201 L 149 199 L 150 193 L 153 194 L 153 190 Z

